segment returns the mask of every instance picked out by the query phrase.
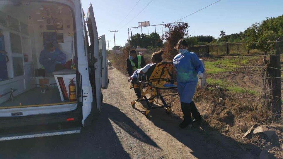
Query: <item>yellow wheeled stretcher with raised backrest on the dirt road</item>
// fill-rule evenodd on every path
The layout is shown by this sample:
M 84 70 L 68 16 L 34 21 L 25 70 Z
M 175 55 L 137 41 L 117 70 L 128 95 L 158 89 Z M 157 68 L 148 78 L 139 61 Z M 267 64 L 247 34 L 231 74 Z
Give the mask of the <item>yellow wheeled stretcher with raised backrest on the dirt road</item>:
M 141 91 L 141 95 L 142 95 L 141 98 L 131 102 L 132 107 L 134 108 L 135 105 L 137 105 L 141 107 L 142 109 L 144 109 L 146 117 L 150 117 L 151 109 L 166 108 L 166 113 L 170 113 L 171 106 L 169 106 L 165 102 L 163 97 L 170 96 L 170 95 L 171 96 L 178 95 L 178 93 L 161 95 L 160 90 L 177 88 L 176 86 L 177 83 L 174 82 L 172 71 L 173 71 L 173 62 L 160 62 L 156 64 L 151 75 L 146 75 L 145 77 L 138 75 L 137 80 L 130 79 L 129 80 L 129 82 L 131 82 L 130 89 L 139 88 Z M 150 98 L 146 97 L 147 94 L 150 95 Z M 157 98 L 160 98 L 162 103 L 159 103 L 157 101 Z M 148 108 L 144 108 L 143 106 L 139 105 L 139 103 L 137 103 L 139 101 L 146 101 Z M 160 106 L 152 106 L 152 104 L 154 103 Z

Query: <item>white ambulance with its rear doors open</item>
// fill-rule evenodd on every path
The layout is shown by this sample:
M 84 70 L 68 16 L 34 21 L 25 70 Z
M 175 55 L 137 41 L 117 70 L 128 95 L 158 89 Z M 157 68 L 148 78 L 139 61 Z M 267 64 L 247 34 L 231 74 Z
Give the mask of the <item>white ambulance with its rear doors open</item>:
M 105 36 L 79 0 L 0 0 L 0 141 L 79 133 L 108 87 Z

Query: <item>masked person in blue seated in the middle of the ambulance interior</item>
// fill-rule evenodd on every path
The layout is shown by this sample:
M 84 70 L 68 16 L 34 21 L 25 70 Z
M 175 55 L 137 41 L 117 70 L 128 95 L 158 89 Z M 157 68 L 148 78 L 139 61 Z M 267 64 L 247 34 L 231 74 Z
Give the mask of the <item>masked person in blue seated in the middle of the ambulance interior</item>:
M 43 65 L 47 73 L 65 69 L 66 54 L 50 43 L 46 49 L 40 52 L 39 63 Z

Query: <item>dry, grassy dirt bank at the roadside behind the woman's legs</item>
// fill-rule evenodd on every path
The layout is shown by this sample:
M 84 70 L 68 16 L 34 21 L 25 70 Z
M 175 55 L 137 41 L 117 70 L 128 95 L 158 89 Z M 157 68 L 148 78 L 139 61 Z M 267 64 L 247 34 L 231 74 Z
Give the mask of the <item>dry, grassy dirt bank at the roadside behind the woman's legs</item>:
M 273 127 L 268 127 L 268 129 L 275 131 L 275 138 L 270 139 L 263 134 L 257 134 L 252 138 L 242 138 L 251 126 L 267 123 L 264 120 L 265 113 L 260 108 L 261 101 L 255 102 L 255 97 L 253 97 L 253 100 L 248 98 L 248 100 L 243 100 L 237 94 L 226 94 L 226 92 L 226 89 L 214 85 L 207 85 L 204 89 L 197 88 L 194 101 L 206 123 L 236 141 L 246 144 L 243 149 L 251 149 L 252 145 L 250 144 L 264 149 L 265 145 L 270 144 L 272 145 L 270 153 L 276 157 L 283 157 L 281 148 L 283 143 L 282 124 L 274 123 Z M 173 113 L 183 118 L 178 96 L 167 96 L 165 98 L 171 104 Z

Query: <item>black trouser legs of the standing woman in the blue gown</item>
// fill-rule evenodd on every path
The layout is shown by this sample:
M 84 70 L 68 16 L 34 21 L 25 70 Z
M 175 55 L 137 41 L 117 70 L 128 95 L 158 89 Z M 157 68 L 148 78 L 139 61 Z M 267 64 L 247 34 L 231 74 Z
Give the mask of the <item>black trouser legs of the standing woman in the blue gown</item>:
M 185 122 L 192 122 L 191 119 L 191 113 L 192 116 L 195 118 L 196 121 L 200 121 L 202 119 L 200 112 L 197 110 L 197 107 L 195 106 L 195 102 L 191 102 L 191 103 L 183 103 L 181 102 L 181 108 L 182 108 L 182 112 L 184 114 L 184 121 Z

